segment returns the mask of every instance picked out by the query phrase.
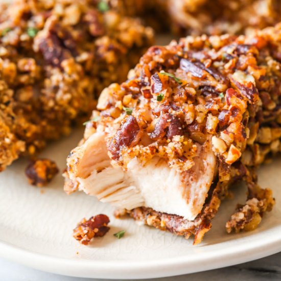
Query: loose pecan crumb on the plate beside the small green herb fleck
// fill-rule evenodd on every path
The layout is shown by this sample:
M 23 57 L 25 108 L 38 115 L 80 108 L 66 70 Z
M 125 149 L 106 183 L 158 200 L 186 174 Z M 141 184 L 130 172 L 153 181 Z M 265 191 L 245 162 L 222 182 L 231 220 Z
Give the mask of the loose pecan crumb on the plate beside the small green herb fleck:
M 103 214 L 90 217 L 88 220 L 84 218 L 73 230 L 73 237 L 81 244 L 88 245 L 93 238 L 106 235 L 110 229 L 110 227 L 107 226 L 108 224 L 109 218 Z

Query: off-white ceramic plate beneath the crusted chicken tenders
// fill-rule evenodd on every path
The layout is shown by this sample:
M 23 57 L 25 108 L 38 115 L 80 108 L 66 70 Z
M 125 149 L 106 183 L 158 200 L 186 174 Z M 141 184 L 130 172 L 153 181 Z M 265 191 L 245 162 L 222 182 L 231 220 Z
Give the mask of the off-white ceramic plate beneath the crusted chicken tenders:
M 65 157 L 82 132 L 49 146 L 42 156 L 56 160 L 61 170 Z M 25 159 L 0 173 L 0 255 L 36 269 L 96 278 L 151 278 L 203 271 L 257 259 L 281 250 L 281 159 L 260 170 L 260 183 L 273 189 L 277 205 L 253 232 L 227 235 L 224 224 L 245 188 L 223 202 L 214 226 L 202 244 L 185 240 L 132 219 L 116 220 L 113 208 L 83 193 L 70 196 L 60 176 L 48 186 L 30 186 L 24 175 Z M 43 191 L 43 193 L 42 193 Z M 72 230 L 83 217 L 100 213 L 110 217 L 111 229 L 91 246 L 80 245 Z M 125 229 L 118 240 L 113 233 Z

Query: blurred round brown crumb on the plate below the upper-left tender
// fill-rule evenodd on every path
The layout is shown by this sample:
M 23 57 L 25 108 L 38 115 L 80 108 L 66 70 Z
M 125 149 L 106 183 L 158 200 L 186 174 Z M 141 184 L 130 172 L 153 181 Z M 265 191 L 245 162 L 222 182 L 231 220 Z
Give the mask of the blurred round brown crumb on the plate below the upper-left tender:
M 39 187 L 48 184 L 58 172 L 56 163 L 50 159 L 32 160 L 26 168 L 26 176 L 30 184 Z

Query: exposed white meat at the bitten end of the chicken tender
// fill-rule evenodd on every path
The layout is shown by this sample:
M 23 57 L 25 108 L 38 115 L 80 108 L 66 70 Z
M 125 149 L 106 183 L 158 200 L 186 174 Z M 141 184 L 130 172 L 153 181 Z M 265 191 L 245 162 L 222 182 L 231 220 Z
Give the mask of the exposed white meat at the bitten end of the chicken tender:
M 80 190 L 129 210 L 146 206 L 188 220 L 196 218 L 217 172 L 216 156 L 208 141 L 198 144 L 194 166 L 188 171 L 171 168 L 158 156 L 146 163 L 134 157 L 124 171 L 110 164 L 105 136 L 100 131 L 92 134 L 68 158 L 68 167 L 71 161 L 76 163 L 69 178 L 79 182 Z

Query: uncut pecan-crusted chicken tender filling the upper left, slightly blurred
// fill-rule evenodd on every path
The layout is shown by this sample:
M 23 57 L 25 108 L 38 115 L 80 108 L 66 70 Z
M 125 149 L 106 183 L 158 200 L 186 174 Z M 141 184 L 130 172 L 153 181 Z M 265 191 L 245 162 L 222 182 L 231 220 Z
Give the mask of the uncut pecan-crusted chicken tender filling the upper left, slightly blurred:
M 101 90 L 124 81 L 153 32 L 99 1 L 15 0 L 0 10 L 1 171 L 88 118 Z

